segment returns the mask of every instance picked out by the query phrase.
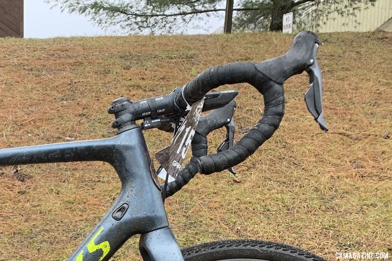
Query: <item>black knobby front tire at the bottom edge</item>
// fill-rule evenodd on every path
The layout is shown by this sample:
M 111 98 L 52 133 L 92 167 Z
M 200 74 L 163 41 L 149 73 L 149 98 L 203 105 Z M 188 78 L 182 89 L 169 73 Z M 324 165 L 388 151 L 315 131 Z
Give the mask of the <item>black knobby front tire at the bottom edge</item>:
M 233 239 L 181 249 L 185 261 L 325 261 L 296 247 L 269 241 Z

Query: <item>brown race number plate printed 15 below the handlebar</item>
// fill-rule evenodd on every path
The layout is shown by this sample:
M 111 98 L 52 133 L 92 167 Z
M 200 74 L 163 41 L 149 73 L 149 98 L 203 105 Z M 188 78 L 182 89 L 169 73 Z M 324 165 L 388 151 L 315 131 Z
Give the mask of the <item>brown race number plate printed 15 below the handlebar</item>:
M 196 126 L 199 122 L 201 111 L 203 110 L 203 105 L 204 99 L 194 103 L 174 136 L 170 146 L 155 153 L 155 158 L 162 167 L 165 168 L 167 174 L 174 179 L 177 178 L 182 162 L 187 155 L 189 146 L 191 146 Z

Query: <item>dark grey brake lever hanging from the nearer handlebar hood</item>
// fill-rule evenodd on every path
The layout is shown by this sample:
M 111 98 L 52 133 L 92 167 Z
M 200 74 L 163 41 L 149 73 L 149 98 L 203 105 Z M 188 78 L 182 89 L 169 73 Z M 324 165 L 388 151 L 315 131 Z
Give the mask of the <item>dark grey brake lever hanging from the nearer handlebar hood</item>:
M 313 61 L 310 61 L 312 64 L 306 68 L 306 72 L 309 74 L 310 86 L 305 94 L 305 102 L 309 112 L 318 122 L 321 130 L 328 131 L 327 124 L 325 124 L 323 117 L 323 79 L 321 77 L 321 69 L 316 61 L 317 49 L 318 43 L 315 43 L 312 55 Z

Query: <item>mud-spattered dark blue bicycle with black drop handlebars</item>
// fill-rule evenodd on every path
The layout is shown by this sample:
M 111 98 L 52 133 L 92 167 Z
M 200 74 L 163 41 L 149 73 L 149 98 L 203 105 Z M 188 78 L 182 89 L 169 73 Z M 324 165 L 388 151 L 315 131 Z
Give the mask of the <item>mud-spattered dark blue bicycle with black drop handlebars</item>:
M 316 61 L 320 41 L 310 31 L 300 32 L 282 56 L 261 63 L 229 63 L 205 70 L 170 94 L 131 102 L 122 97 L 108 109 L 115 120 L 116 136 L 108 139 L 65 142 L 0 149 L 0 166 L 74 161 L 111 164 L 122 183 L 120 194 L 93 231 L 69 260 L 106 261 L 135 234 L 140 234 L 144 261 L 256 261 L 325 260 L 295 247 L 259 240 L 226 240 L 180 250 L 164 208 L 164 200 L 197 173 L 209 175 L 233 167 L 252 155 L 278 129 L 285 112 L 283 83 L 306 71 L 310 86 L 305 94 L 309 112 L 322 130 L 321 69 Z M 238 91 L 209 92 L 225 84 L 249 83 L 264 98 L 260 121 L 234 144 L 234 98 Z M 212 110 L 207 115 L 201 112 Z M 136 124 L 143 120 L 142 124 Z M 218 128 L 227 135 L 217 153 L 207 155 L 207 135 Z M 171 145 L 156 153 L 161 166 L 158 182 L 142 131 L 158 128 L 173 132 Z M 189 163 L 181 168 L 187 150 Z

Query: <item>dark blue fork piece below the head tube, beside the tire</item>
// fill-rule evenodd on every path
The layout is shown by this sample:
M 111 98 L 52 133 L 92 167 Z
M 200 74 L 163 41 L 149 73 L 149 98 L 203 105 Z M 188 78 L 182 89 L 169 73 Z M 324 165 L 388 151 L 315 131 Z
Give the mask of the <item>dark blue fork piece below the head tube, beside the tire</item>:
M 169 227 L 143 234 L 140 237 L 139 249 L 143 261 L 184 261 Z

